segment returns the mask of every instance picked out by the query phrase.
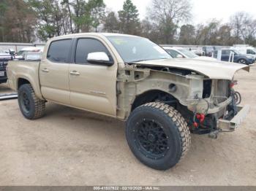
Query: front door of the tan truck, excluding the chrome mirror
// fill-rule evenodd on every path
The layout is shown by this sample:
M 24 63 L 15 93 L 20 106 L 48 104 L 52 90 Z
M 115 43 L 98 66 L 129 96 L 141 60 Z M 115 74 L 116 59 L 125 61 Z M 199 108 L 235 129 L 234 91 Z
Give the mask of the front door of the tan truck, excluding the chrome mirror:
M 117 63 L 113 66 L 91 64 L 87 56 L 91 52 L 105 52 L 113 59 L 105 42 L 100 39 L 78 39 L 75 61 L 69 66 L 71 105 L 90 112 L 116 116 Z

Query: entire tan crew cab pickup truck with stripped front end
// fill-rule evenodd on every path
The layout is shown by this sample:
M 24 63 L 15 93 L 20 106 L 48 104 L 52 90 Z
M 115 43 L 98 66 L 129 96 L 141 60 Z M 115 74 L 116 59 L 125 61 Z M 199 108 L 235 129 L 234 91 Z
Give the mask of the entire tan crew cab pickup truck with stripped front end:
M 11 61 L 9 84 L 29 120 L 45 103 L 126 121 L 133 154 L 151 168 L 173 167 L 190 133 L 233 131 L 249 111 L 236 106 L 238 63 L 173 59 L 148 39 L 124 34 L 72 34 L 50 39 L 41 61 Z

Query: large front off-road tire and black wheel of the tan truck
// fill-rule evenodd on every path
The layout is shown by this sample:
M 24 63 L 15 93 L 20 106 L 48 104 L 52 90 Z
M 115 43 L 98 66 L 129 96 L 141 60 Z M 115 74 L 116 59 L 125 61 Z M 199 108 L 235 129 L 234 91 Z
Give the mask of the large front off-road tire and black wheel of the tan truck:
M 162 128 L 164 134 L 155 133 L 157 135 L 161 134 L 161 136 L 155 136 L 154 139 L 149 130 L 147 135 L 140 136 L 141 132 L 147 130 L 144 127 L 145 124 L 147 124 L 146 127 L 148 126 L 149 129 L 160 130 Z M 158 125 L 160 128 L 158 128 Z M 143 128 L 143 130 L 139 131 L 138 129 L 140 128 Z M 154 130 L 152 134 L 154 134 Z M 144 104 L 130 114 L 127 120 L 126 137 L 129 148 L 135 157 L 143 164 L 157 170 L 167 170 L 176 165 L 186 155 L 191 144 L 190 131 L 184 117 L 173 107 L 160 102 Z M 165 140 L 165 138 L 167 138 L 167 146 L 165 144 L 163 144 L 163 147 L 159 146 L 162 144 L 159 144 L 156 140 Z M 140 139 L 143 139 L 144 142 L 141 143 Z M 148 139 L 148 142 L 146 139 Z M 148 149 L 148 143 L 151 145 L 152 142 L 153 145 L 159 146 L 158 149 Z M 162 142 L 165 143 L 165 141 Z M 159 152 L 154 153 L 151 152 L 152 150 Z M 165 152 L 161 153 L 162 150 L 165 150 Z M 158 153 L 160 154 L 158 155 Z

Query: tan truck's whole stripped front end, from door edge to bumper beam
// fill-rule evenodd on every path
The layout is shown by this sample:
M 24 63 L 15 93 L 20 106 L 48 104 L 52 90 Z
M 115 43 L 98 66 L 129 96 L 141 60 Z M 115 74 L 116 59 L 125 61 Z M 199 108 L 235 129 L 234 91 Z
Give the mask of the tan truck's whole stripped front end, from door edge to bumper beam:
M 229 67 L 222 72 L 227 74 Z M 234 98 L 232 75 L 239 69 L 244 66 L 236 66 L 221 79 L 217 70 L 211 76 L 211 69 L 202 66 L 192 70 L 170 67 L 167 63 L 159 66 L 157 61 L 131 63 L 118 74 L 118 115 L 128 117 L 136 107 L 160 101 L 178 110 L 192 133 L 217 138 L 219 132 L 238 127 L 249 112 L 249 106 L 237 106 Z

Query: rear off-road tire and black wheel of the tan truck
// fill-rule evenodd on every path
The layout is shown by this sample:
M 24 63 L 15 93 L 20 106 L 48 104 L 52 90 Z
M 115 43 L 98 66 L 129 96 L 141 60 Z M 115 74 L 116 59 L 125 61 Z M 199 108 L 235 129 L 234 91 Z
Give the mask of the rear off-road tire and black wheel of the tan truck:
M 24 96 L 26 95 L 26 106 Z M 20 111 L 28 120 L 36 120 L 45 114 L 45 101 L 37 98 L 30 84 L 21 85 L 18 90 Z

